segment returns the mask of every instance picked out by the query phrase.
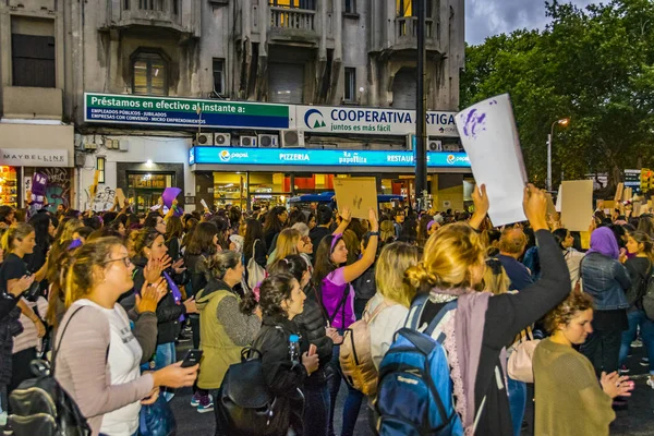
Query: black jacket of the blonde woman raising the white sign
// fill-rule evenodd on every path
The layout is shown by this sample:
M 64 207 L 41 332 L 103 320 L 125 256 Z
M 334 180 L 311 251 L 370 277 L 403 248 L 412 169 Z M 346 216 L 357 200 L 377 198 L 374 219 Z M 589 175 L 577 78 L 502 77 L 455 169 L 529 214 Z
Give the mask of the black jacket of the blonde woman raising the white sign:
M 513 434 L 509 399 L 506 386 L 498 386 L 496 371 L 501 373 L 499 361 L 501 349 L 509 346 L 516 336 L 541 319 L 570 293 L 570 274 L 552 233 L 536 232 L 541 255 L 541 279 L 521 292 L 493 295 L 484 322 L 482 352 L 474 385 L 474 401 L 479 410 L 484 397 L 484 410 L 476 435 L 505 436 Z M 431 320 L 443 307 L 427 301 L 420 324 Z M 496 370 L 497 368 L 497 370 Z M 502 374 L 499 379 L 504 380 Z M 476 411 L 475 411 L 476 413 Z

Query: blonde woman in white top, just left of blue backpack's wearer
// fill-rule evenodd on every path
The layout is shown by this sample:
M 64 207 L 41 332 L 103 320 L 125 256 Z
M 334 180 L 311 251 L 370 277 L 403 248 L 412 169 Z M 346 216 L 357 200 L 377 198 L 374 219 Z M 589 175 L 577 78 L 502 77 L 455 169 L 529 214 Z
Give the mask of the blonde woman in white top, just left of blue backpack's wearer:
M 417 265 L 417 247 L 393 242 L 382 249 L 375 266 L 377 293 L 368 302 L 371 354 L 376 368 L 393 342 L 395 334 L 404 325 L 415 289 L 404 278 L 407 269 Z

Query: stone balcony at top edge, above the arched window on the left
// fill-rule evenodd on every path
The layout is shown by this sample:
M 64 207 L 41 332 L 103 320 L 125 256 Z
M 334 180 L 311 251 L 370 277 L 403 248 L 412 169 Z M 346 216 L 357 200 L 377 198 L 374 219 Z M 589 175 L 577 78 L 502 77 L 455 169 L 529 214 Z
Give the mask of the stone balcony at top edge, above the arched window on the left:
M 196 0 L 108 0 L 107 27 L 160 27 L 199 37 Z M 197 2 L 198 3 L 198 2 Z

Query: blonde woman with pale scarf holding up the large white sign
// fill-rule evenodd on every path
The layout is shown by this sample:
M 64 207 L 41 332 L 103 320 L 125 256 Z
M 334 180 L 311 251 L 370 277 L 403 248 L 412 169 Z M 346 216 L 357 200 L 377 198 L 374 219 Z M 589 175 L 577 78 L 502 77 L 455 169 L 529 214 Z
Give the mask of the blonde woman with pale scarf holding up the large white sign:
M 567 267 L 547 227 L 545 194 L 529 185 L 523 208 L 536 232 L 542 278 L 517 294 L 475 292 L 486 268 L 479 230 L 489 207 L 484 185 L 474 190 L 473 201 L 475 213 L 469 223 L 440 228 L 427 241 L 423 261 L 407 270 L 407 279 L 420 292 L 407 325 L 429 325 L 441 316 L 425 334 L 434 339 L 445 334 L 457 411 L 452 426 L 467 434 L 510 435 L 513 427 L 500 355 L 522 329 L 568 294 Z M 388 412 L 380 413 L 384 420 Z

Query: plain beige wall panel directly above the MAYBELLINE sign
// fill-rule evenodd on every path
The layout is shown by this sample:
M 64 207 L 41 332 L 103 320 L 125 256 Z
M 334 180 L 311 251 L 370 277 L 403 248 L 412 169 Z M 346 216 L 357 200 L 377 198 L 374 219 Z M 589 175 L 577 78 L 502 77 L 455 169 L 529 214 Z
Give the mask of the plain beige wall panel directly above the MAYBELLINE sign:
M 4 86 L 2 118 L 21 120 L 61 120 L 63 92 L 60 88 Z

